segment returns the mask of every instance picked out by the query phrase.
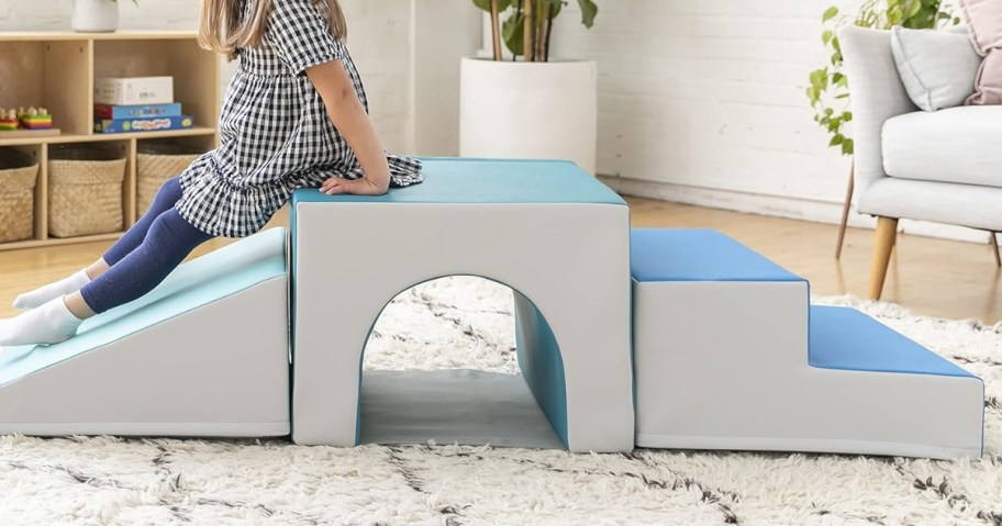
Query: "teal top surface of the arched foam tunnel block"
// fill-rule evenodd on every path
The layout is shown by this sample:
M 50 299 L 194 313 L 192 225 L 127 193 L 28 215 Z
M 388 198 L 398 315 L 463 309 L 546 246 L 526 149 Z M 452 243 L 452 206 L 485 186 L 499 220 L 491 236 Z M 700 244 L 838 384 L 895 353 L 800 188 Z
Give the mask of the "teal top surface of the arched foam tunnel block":
M 325 195 L 297 190 L 299 203 L 595 203 L 626 205 L 615 192 L 574 163 L 422 158 L 424 182 L 385 195 Z

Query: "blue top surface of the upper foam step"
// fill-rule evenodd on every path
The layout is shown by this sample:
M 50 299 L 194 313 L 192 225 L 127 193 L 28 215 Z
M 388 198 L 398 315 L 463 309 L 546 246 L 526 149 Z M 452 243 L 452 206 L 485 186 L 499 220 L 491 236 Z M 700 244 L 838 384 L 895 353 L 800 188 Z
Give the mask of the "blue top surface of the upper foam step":
M 630 272 L 641 282 L 804 281 L 755 250 L 710 230 L 631 230 Z

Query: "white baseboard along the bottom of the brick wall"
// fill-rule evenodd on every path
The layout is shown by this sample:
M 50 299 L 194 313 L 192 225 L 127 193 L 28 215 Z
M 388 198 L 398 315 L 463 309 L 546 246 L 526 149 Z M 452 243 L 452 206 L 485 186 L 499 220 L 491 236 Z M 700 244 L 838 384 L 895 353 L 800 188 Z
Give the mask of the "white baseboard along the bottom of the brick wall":
M 692 204 L 710 209 L 731 210 L 750 214 L 787 217 L 813 223 L 838 224 L 842 201 L 820 201 L 764 193 L 739 192 L 716 188 L 691 187 L 670 182 L 643 181 L 623 177 L 599 176 L 599 179 L 623 195 L 657 199 L 673 203 Z M 855 205 L 854 205 L 855 208 Z M 849 213 L 849 226 L 872 230 L 873 217 Z M 938 237 L 970 243 L 988 243 L 988 233 L 964 226 L 902 220 L 899 232 L 909 235 Z

